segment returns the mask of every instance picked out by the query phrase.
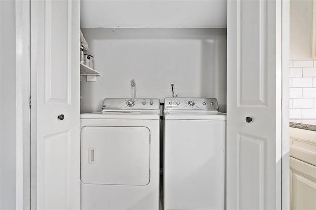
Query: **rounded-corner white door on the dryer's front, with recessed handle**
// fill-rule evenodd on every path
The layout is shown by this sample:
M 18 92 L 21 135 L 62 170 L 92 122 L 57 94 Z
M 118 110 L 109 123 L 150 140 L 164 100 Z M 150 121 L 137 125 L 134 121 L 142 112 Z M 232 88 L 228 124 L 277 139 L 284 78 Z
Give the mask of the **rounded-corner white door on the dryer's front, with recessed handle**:
M 81 181 L 85 184 L 147 185 L 147 127 L 85 126 L 81 130 Z

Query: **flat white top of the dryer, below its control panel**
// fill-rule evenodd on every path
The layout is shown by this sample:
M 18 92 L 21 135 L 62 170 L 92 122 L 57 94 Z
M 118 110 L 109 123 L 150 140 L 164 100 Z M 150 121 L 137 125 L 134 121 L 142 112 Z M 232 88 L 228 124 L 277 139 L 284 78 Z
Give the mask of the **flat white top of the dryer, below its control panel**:
M 160 111 L 102 111 L 80 114 L 81 119 L 160 119 Z

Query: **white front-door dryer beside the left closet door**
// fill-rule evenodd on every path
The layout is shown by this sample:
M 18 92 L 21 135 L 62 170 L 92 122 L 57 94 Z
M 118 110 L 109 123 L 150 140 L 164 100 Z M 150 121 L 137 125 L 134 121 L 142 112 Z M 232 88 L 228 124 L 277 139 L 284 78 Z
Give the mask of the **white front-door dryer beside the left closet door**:
M 81 114 L 81 209 L 159 209 L 159 99 Z

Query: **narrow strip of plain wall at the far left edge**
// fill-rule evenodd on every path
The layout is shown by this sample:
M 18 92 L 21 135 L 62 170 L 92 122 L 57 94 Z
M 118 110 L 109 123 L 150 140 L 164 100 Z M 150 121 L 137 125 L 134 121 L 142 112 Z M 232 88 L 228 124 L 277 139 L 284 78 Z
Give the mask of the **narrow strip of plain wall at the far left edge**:
M 15 1 L 0 1 L 0 209 L 16 207 Z

